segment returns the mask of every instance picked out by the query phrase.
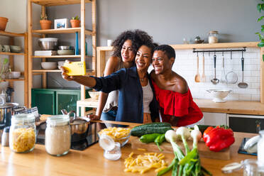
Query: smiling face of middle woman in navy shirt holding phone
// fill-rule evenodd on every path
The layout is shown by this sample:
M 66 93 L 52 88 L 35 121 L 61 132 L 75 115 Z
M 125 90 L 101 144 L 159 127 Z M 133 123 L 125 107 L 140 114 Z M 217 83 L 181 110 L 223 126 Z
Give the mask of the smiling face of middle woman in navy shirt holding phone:
M 141 48 L 138 49 L 135 59 L 136 68 L 138 69 L 138 71 L 148 70 L 148 66 L 150 66 L 151 56 L 151 49 L 147 46 L 142 45 Z

